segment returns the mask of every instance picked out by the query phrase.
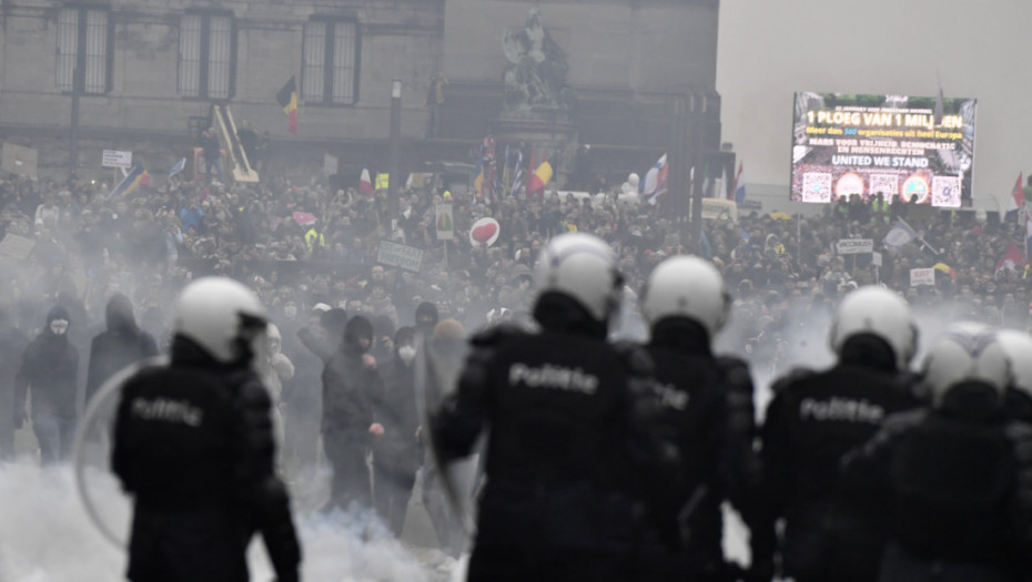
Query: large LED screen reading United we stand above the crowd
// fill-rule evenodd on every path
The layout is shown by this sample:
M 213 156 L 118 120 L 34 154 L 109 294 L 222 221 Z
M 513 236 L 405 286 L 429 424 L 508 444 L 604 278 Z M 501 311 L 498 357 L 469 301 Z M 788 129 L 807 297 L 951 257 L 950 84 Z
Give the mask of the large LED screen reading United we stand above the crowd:
M 791 196 L 971 205 L 975 100 L 796 93 Z

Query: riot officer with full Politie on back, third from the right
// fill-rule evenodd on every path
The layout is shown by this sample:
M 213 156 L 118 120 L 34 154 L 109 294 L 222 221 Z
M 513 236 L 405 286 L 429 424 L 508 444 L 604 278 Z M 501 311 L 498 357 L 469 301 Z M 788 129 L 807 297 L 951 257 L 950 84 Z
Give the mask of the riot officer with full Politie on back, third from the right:
M 783 519 L 786 575 L 798 582 L 874 579 L 883 521 L 877 507 L 839 509 L 839 464 L 889 415 L 919 406 L 905 374 L 917 335 L 902 297 L 862 287 L 842 299 L 832 320 L 838 361 L 775 384 L 761 430 L 766 524 L 753 532 L 753 557 L 770 552 L 775 522 Z

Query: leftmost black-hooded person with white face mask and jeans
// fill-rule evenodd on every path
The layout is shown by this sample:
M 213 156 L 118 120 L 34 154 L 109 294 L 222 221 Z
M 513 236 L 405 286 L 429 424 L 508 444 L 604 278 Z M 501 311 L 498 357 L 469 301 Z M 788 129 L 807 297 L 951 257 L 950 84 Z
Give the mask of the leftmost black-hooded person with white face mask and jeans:
M 52 307 L 47 325 L 26 347 L 14 377 L 14 428 L 28 419 L 26 398 L 31 391 L 32 430 L 43 463 L 67 459 L 75 436 L 79 350 L 68 340 L 70 327 L 68 309 Z

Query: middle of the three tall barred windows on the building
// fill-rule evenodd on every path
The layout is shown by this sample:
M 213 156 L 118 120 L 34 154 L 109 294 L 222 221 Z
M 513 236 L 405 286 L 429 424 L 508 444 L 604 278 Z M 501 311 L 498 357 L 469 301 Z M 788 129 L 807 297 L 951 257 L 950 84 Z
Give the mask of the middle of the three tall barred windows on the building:
M 183 14 L 179 32 L 179 94 L 230 99 L 236 89 L 235 71 L 236 29 L 233 17 Z

